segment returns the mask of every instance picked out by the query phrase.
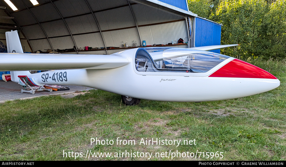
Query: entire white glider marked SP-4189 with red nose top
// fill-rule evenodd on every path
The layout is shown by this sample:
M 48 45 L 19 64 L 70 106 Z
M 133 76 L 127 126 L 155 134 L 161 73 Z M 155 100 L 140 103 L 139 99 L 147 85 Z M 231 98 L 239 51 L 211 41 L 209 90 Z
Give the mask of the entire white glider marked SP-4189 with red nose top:
M 9 52 L 1 53 L 0 71 L 25 75 L 35 85 L 81 85 L 121 94 L 126 104 L 138 99 L 198 102 L 249 96 L 272 90 L 280 81 L 254 65 L 196 48 L 146 47 L 112 55 L 27 54 L 18 35 L 6 32 Z M 9 41 L 9 42 L 8 42 Z M 11 45 L 13 43 L 13 45 Z M 23 71 L 27 70 L 27 71 Z M 29 73 L 30 70 L 52 70 Z M 174 91 L 170 92 L 170 89 Z

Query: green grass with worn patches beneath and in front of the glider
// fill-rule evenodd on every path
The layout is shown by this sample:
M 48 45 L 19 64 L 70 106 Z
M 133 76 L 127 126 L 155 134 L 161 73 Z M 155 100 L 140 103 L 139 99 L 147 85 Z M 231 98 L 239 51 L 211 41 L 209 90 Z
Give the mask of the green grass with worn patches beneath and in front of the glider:
M 118 94 L 89 90 L 74 98 L 45 96 L 0 104 L 0 160 L 74 160 L 66 152 L 223 152 L 222 160 L 285 160 L 285 61 L 251 63 L 275 75 L 281 86 L 244 98 L 213 102 L 141 100 L 125 106 Z M 284 71 L 284 73 L 283 73 Z M 196 139 L 196 145 L 90 145 L 90 138 Z M 147 158 L 90 158 L 89 160 Z M 77 158 L 77 160 L 86 160 Z M 88 159 L 87 159 L 88 160 Z M 170 160 L 151 158 L 150 160 Z M 175 160 L 195 160 L 175 158 Z M 201 158 L 200 160 L 206 160 Z M 212 160 L 220 160 L 213 158 Z

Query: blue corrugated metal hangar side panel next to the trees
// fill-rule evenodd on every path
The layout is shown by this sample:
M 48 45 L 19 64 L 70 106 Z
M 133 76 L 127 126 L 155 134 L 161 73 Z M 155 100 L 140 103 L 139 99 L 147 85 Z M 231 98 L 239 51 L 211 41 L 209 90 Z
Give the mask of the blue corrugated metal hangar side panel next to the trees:
M 196 17 L 195 47 L 221 45 L 221 25 Z M 220 53 L 220 49 L 213 50 Z

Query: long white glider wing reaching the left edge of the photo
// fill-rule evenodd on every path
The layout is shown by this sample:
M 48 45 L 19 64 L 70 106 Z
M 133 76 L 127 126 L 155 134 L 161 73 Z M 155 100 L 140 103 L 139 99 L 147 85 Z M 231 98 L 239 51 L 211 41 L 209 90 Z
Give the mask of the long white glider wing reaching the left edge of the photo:
M 118 55 L 0 53 L 0 71 L 112 69 L 129 61 Z

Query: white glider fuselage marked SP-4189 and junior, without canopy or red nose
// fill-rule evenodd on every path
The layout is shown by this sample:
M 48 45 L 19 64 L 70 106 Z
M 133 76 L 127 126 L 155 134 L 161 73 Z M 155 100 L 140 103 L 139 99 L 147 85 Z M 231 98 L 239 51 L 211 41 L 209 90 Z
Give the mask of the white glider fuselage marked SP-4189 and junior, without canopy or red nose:
M 118 68 L 54 70 L 28 77 L 37 84 L 81 85 L 134 98 L 177 102 L 239 98 L 266 92 L 280 85 L 278 79 L 210 77 L 233 61 L 235 58 L 232 57 L 205 73 L 138 71 L 134 63 L 136 51 L 119 52 L 117 55 L 128 59 L 129 63 Z

